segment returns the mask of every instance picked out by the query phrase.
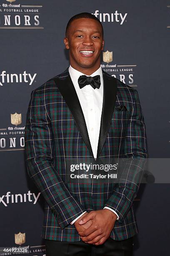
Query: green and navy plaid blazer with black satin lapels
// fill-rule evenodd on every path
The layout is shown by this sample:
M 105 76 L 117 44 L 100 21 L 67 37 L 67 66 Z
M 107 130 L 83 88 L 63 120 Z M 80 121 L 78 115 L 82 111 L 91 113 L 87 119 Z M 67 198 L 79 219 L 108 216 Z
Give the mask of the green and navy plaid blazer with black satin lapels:
M 102 74 L 104 92 L 97 159 L 145 159 L 147 141 L 138 92 L 103 70 Z M 118 105 L 124 105 L 127 111 L 117 110 Z M 67 157 L 94 159 L 68 68 L 31 92 L 26 116 L 28 174 L 45 199 L 42 238 L 80 241 L 75 225 L 70 225 L 72 220 L 85 210 L 105 206 L 120 217 L 110 238 L 124 240 L 138 233 L 133 200 L 139 184 L 69 184 L 65 179 Z M 131 167 L 137 172 L 137 166 Z

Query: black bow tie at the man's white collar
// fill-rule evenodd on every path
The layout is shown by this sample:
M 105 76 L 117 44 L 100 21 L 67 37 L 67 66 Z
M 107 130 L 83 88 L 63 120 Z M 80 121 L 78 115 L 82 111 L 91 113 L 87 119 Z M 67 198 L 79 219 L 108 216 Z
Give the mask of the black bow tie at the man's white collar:
M 100 75 L 97 75 L 95 77 L 87 77 L 85 75 L 80 76 L 78 79 L 78 84 L 80 89 L 82 89 L 82 87 L 84 87 L 87 84 L 90 84 L 92 86 L 93 89 L 95 88 L 100 88 Z

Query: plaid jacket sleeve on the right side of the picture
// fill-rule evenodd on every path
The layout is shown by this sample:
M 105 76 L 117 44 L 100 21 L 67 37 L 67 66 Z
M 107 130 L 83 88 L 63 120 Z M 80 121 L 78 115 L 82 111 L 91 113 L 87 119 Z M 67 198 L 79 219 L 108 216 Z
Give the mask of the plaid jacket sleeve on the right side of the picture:
M 110 207 L 117 212 L 118 223 L 126 217 L 133 200 L 136 197 L 140 180 L 145 169 L 147 158 L 147 141 L 145 123 L 140 106 L 137 90 L 132 94 L 133 108 L 128 122 L 127 133 L 123 146 L 123 159 L 120 178 L 115 184 L 115 189 L 104 207 Z

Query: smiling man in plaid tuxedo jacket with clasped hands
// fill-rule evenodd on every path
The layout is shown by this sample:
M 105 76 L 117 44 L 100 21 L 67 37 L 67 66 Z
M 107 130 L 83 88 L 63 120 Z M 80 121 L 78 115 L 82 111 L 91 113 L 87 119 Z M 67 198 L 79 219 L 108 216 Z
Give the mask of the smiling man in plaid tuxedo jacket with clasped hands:
M 70 67 L 31 92 L 25 126 L 28 174 L 45 198 L 47 256 L 130 256 L 139 186 L 128 180 L 143 165 L 127 164 L 122 183 L 69 183 L 66 162 L 145 159 L 138 92 L 101 69 L 103 28 L 94 15 L 73 16 L 64 43 Z

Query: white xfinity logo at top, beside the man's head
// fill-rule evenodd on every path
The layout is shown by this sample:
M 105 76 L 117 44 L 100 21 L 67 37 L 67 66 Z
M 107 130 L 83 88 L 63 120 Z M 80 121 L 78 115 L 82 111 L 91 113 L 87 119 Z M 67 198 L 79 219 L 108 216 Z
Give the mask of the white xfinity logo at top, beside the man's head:
M 125 13 L 122 15 L 122 13 L 117 13 L 117 10 L 115 11 L 115 13 L 99 13 L 99 10 L 95 10 L 95 13 L 92 13 L 93 15 L 95 15 L 97 18 L 100 19 L 101 22 L 120 22 L 120 25 L 123 24 L 123 22 L 125 21 L 125 18 L 127 16 L 128 13 Z

